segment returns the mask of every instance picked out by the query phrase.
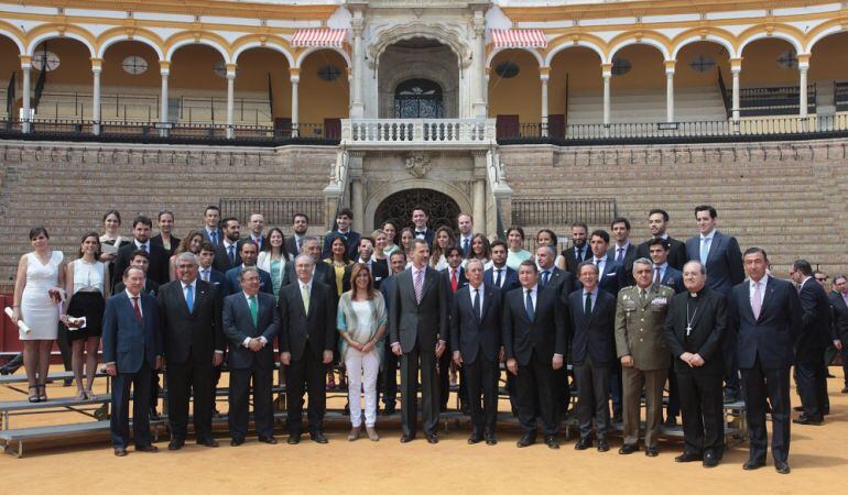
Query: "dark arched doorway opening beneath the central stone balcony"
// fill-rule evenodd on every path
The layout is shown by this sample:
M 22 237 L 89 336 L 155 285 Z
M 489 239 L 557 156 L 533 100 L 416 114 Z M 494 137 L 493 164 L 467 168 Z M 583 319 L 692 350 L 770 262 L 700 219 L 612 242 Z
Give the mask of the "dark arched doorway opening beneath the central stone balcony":
M 400 228 L 411 227 L 412 209 L 416 206 L 426 209 L 431 229 L 447 226 L 457 231 L 459 205 L 450 196 L 433 189 L 406 189 L 388 196 L 374 211 L 374 226 L 392 219 Z

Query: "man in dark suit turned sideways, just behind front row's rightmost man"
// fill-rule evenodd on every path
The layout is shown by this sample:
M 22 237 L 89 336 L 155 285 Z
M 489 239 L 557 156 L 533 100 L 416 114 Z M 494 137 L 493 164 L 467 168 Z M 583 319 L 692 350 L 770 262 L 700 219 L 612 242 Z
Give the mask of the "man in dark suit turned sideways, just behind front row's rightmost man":
M 827 399 L 827 367 L 825 349 L 830 344 L 830 301 L 824 287 L 813 278 L 813 267 L 806 260 L 796 260 L 790 277 L 798 286 L 801 302 L 801 337 L 795 342 L 795 377 L 804 411 L 792 422 L 822 425 Z

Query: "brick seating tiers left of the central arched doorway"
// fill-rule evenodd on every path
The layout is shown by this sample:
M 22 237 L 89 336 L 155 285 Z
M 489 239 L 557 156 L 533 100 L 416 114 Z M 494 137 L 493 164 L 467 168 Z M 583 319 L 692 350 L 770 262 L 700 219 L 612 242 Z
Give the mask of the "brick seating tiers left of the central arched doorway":
M 180 238 L 203 224 L 222 197 L 324 200 L 336 148 L 280 148 L 74 143 L 0 143 L 0 292 L 9 289 L 29 231 L 44 226 L 54 249 L 76 256 L 79 238 L 101 229 L 117 209 L 129 235 L 132 218 L 170 209 Z M 246 219 L 241 219 L 242 222 Z M 313 223 L 317 223 L 313 221 Z M 282 227 L 286 232 L 291 221 Z M 326 226 L 317 223 L 314 231 Z M 246 229 L 242 228 L 246 232 Z

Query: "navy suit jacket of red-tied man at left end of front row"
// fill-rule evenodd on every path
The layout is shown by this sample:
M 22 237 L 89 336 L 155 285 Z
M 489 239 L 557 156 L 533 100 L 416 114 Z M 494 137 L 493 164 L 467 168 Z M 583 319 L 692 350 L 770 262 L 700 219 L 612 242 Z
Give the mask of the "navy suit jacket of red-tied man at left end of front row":
M 159 311 L 153 296 L 141 293 L 142 321 L 135 318 L 132 301 L 122 290 L 106 301 L 104 311 L 104 362 L 115 363 L 118 373 L 137 373 L 146 361 L 156 367 L 162 355 L 162 334 L 159 331 Z

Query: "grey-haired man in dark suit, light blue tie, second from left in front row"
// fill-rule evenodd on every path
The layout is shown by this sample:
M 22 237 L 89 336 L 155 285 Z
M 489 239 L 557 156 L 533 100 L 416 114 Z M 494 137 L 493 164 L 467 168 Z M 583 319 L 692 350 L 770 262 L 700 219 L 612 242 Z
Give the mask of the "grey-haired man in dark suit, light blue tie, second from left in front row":
M 188 403 L 194 395 L 194 431 L 197 443 L 218 447 L 213 437 L 214 367 L 224 362 L 221 295 L 198 278 L 197 258 L 182 253 L 176 258 L 177 280 L 159 292 L 159 316 L 167 364 L 168 450 L 185 444 Z

